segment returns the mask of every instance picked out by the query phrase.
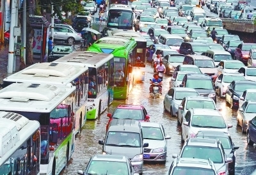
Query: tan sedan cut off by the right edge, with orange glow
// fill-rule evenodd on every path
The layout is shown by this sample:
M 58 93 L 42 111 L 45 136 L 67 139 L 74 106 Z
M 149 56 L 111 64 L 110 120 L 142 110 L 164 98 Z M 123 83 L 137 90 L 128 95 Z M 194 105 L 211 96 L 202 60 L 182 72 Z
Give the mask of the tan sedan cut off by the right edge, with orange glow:
M 246 101 L 237 111 L 237 126 L 241 126 L 242 133 L 245 133 L 248 123 L 256 116 L 256 102 Z

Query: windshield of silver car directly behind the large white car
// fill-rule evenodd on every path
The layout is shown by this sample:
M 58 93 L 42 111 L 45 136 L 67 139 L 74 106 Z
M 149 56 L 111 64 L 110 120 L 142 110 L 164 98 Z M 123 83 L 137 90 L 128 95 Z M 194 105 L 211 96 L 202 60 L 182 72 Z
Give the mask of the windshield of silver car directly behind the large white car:
M 201 108 L 201 109 L 216 109 L 213 101 L 209 100 L 188 100 L 186 109 Z

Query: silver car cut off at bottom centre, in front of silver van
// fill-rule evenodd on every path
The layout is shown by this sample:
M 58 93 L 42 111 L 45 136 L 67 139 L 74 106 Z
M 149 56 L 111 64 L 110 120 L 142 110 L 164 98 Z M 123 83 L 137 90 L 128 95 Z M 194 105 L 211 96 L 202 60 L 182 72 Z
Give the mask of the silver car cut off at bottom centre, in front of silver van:
M 106 172 L 109 174 L 135 174 L 130 160 L 122 155 L 93 155 L 86 169 L 77 171 L 77 174 L 106 174 Z

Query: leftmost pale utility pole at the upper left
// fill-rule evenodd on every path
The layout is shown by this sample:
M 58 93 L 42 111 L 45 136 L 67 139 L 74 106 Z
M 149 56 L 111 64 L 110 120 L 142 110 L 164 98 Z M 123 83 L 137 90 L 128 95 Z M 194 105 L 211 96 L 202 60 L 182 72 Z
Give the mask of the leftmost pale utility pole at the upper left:
M 12 0 L 11 7 L 11 24 L 10 24 L 10 40 L 9 40 L 9 53 L 8 53 L 8 66 L 7 73 L 13 73 L 13 59 L 14 59 L 14 27 L 16 24 L 16 8 L 17 0 Z

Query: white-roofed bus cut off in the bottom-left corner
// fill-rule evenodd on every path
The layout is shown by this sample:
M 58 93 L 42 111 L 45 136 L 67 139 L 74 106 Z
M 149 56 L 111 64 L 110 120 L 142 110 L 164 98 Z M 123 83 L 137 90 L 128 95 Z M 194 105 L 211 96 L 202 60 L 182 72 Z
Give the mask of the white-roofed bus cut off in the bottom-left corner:
M 20 114 L 0 112 L 0 174 L 39 174 L 40 124 Z

